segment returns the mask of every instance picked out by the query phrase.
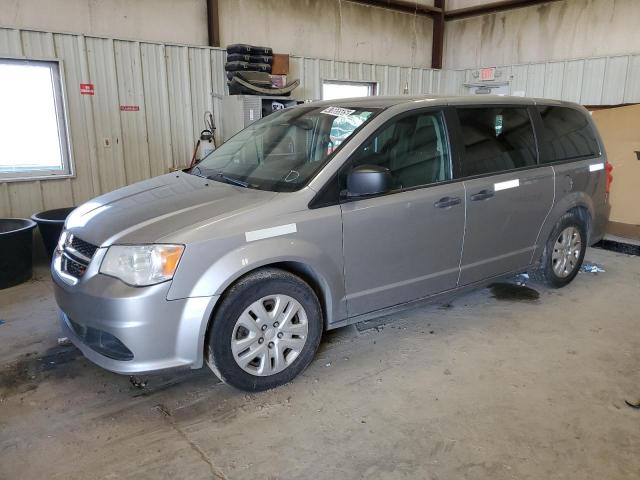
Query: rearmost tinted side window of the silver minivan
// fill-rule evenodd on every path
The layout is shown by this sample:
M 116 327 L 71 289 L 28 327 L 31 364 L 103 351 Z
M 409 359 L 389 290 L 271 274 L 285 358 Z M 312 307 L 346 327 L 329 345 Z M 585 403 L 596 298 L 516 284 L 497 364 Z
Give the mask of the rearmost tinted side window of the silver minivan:
M 542 116 L 541 163 L 594 157 L 600 153 L 585 115 L 573 108 L 538 107 Z

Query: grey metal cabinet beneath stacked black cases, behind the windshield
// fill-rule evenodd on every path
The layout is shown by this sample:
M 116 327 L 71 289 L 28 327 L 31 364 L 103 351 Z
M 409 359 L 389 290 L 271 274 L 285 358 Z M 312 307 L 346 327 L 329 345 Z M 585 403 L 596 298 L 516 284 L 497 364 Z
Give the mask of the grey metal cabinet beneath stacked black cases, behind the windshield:
M 240 130 L 262 117 L 302 103 L 291 97 L 227 95 L 222 99 L 222 132 L 226 142 Z

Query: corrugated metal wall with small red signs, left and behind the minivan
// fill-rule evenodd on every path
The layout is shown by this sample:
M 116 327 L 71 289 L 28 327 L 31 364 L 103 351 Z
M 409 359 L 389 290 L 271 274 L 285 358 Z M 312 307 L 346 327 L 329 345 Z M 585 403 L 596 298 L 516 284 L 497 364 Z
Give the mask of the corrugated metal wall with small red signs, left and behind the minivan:
M 0 56 L 62 61 L 76 173 L 0 183 L 0 217 L 78 205 L 184 166 L 206 111 L 222 138 L 224 50 L 0 28 Z M 454 93 L 450 74 L 419 68 L 293 57 L 290 77 L 301 80 L 300 99 L 320 98 L 322 79 L 377 81 L 381 94 Z M 80 83 L 93 83 L 95 95 L 80 95 Z

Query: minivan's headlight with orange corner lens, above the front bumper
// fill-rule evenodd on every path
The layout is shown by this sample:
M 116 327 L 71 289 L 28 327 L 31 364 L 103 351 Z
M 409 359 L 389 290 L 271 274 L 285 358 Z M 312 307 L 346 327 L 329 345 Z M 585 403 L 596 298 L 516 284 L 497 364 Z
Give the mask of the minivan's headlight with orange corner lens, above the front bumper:
M 184 246 L 113 245 L 100 265 L 100 273 L 143 287 L 173 278 Z

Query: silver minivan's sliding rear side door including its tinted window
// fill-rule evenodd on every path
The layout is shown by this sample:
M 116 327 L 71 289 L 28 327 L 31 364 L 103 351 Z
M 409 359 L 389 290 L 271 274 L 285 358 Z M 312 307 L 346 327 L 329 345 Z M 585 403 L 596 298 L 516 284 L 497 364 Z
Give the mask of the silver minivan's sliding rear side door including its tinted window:
M 529 110 L 459 108 L 467 221 L 460 285 L 526 268 L 553 205 L 554 173 L 537 166 Z

